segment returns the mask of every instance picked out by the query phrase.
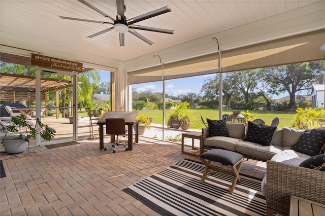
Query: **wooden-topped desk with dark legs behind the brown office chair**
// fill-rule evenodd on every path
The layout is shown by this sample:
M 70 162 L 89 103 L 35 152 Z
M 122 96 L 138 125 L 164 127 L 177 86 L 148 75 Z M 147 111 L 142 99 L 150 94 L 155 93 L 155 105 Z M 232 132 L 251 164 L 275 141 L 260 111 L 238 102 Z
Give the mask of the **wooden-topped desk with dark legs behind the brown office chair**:
M 97 124 L 100 125 L 100 149 L 104 149 L 104 125 L 106 125 L 106 119 L 111 118 L 123 118 L 125 120 L 125 125 L 128 126 L 128 150 L 132 150 L 133 146 L 133 128 L 135 125 L 136 128 L 136 140 L 135 142 L 139 142 L 139 120 L 136 120 L 138 112 L 106 112 L 100 120 L 98 120 Z M 111 142 L 115 141 L 114 134 L 111 135 Z

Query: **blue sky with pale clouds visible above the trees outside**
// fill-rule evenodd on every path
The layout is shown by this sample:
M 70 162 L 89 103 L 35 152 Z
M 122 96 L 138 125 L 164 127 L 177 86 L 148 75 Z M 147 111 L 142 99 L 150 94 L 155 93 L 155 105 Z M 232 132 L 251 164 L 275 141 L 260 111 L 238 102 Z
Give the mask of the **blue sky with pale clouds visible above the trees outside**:
M 101 82 L 110 82 L 110 76 L 107 76 L 107 71 L 99 70 L 101 74 Z M 203 75 L 196 77 L 188 77 L 182 79 L 174 79 L 165 81 L 165 91 L 168 95 L 177 96 L 180 94 L 187 93 L 196 93 L 199 94 L 201 91 L 201 87 L 203 83 L 208 79 L 213 79 L 215 74 L 211 75 Z M 142 83 L 132 85 L 132 88 L 136 89 L 136 91 L 147 91 L 151 90 L 152 92 L 163 92 L 163 82 L 151 82 L 151 83 Z M 279 99 L 288 95 L 287 93 L 283 93 L 280 95 L 273 95 L 273 99 Z

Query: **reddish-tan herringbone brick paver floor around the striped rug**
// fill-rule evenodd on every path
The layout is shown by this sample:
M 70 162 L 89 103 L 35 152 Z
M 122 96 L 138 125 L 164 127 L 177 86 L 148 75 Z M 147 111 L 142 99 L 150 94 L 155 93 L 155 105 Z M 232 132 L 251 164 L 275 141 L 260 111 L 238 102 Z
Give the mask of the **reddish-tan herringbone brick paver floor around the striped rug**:
M 143 137 L 133 151 L 115 154 L 100 150 L 98 139 L 78 142 L 1 154 L 0 215 L 158 215 L 122 189 L 183 158 L 199 161 L 180 145 Z M 245 160 L 241 173 L 262 178 L 266 163 Z

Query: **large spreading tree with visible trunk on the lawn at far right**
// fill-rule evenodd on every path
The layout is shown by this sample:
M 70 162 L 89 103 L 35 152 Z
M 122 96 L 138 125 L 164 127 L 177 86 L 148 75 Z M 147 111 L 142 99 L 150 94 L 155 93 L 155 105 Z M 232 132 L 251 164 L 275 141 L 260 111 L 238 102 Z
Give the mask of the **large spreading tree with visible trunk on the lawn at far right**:
M 299 91 L 311 90 L 322 73 L 324 61 L 303 62 L 261 69 L 269 81 L 271 94 L 287 92 L 289 94 L 289 109 L 295 109 L 295 95 Z M 319 80 L 318 80 L 319 82 Z

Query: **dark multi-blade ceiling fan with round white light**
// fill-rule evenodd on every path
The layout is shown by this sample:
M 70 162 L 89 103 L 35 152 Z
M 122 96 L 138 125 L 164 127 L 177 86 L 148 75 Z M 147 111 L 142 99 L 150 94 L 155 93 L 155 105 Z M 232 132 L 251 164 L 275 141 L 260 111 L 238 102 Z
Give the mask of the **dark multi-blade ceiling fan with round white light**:
M 124 12 L 126 10 L 126 7 L 124 5 L 124 0 L 116 0 L 116 8 L 117 8 L 117 15 L 116 19 L 112 18 L 111 16 L 107 15 L 103 11 L 99 10 L 98 8 L 93 7 L 89 3 L 87 3 L 84 0 L 78 0 L 80 3 L 84 4 L 85 6 L 91 8 L 92 10 L 96 11 L 97 13 L 103 15 L 106 18 L 109 18 L 111 22 L 106 22 L 106 21 L 97 21 L 97 20 L 89 20 L 89 19 L 80 19 L 80 18 L 73 18 L 73 17 L 63 17 L 63 16 L 58 16 L 62 19 L 70 19 L 70 20 L 78 20 L 78 21 L 84 21 L 84 22 L 94 22 L 94 23 L 102 23 L 102 24 L 112 24 L 113 27 L 110 27 L 108 29 L 105 29 L 103 31 L 94 33 L 87 38 L 93 38 L 96 37 L 100 34 L 103 34 L 105 32 L 108 32 L 112 29 L 117 31 L 119 33 L 119 39 L 120 39 L 120 46 L 124 46 L 124 33 L 130 32 L 133 35 L 135 35 L 137 38 L 141 39 L 142 41 L 146 42 L 149 45 L 153 45 L 154 43 L 150 41 L 149 39 L 143 37 L 143 35 L 139 34 L 136 32 L 134 29 L 139 29 L 139 30 L 147 30 L 147 31 L 155 31 L 155 32 L 161 32 L 161 33 L 168 33 L 168 34 L 174 34 L 174 30 L 168 30 L 168 29 L 162 29 L 162 28 L 154 28 L 154 27 L 148 27 L 148 26 L 142 26 L 142 25 L 134 25 L 136 22 L 140 22 L 145 19 L 149 19 L 151 17 L 158 16 L 160 14 L 165 14 L 167 12 L 172 11 L 169 6 L 156 9 L 154 11 L 136 16 L 131 19 L 126 19 L 124 16 Z

